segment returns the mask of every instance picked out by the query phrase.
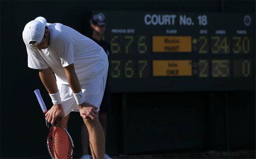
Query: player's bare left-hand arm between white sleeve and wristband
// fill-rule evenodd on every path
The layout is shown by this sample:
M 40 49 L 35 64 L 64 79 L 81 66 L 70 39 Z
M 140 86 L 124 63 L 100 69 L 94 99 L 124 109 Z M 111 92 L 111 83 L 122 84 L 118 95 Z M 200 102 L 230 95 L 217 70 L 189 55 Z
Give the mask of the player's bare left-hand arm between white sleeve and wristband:
M 49 94 L 54 94 L 58 90 L 56 79 L 51 68 L 39 69 L 39 77 Z

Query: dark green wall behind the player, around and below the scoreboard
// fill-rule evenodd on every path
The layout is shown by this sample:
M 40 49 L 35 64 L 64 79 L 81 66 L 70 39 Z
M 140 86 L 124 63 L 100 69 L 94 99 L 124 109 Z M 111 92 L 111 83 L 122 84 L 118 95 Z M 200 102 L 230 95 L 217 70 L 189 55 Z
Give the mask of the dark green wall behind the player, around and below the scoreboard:
M 24 26 L 43 16 L 90 36 L 94 10 L 255 14 L 255 2 L 1 1 L 1 158 L 49 158 L 45 121 L 33 91 L 40 89 L 48 108 L 51 101 L 38 71 L 27 67 Z M 112 93 L 107 152 L 255 148 L 255 83 L 251 87 L 251 91 L 150 92 L 149 88 L 143 93 Z M 75 156 L 81 153 L 81 125 L 79 114 L 72 113 L 68 127 Z

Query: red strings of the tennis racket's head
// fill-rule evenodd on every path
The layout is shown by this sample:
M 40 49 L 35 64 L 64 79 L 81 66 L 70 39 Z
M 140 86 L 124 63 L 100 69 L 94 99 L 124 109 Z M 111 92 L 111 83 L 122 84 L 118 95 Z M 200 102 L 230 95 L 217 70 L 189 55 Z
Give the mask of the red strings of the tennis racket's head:
M 67 132 L 59 126 L 53 126 L 48 134 L 48 148 L 54 159 L 72 157 L 73 144 Z

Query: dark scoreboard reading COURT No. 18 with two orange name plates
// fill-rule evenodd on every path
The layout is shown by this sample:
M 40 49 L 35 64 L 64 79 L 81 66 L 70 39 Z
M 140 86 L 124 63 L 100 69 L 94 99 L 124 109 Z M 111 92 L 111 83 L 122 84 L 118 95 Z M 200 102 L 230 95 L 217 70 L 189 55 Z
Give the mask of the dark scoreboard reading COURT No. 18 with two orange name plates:
M 101 12 L 112 92 L 255 90 L 255 15 Z

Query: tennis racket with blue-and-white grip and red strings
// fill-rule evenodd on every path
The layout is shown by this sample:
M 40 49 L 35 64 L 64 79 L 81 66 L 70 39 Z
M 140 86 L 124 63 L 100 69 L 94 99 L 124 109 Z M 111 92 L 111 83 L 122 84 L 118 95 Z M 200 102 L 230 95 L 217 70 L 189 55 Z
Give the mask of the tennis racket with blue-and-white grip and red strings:
M 43 102 L 39 89 L 34 90 L 37 100 L 44 114 L 47 113 L 46 106 Z M 70 134 L 65 128 L 58 124 L 51 125 L 47 122 L 48 135 L 46 137 L 47 149 L 52 159 L 71 159 L 73 157 L 74 144 Z

